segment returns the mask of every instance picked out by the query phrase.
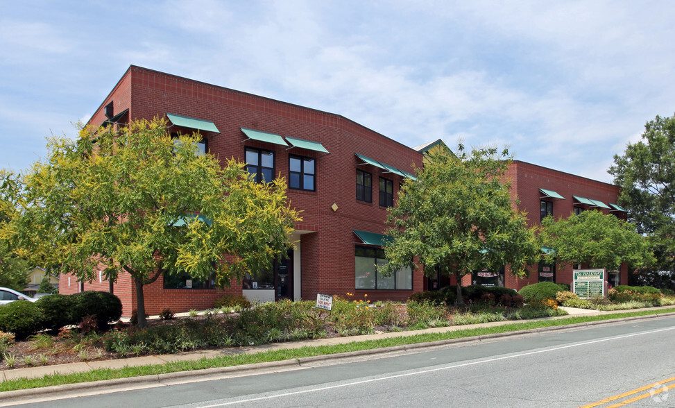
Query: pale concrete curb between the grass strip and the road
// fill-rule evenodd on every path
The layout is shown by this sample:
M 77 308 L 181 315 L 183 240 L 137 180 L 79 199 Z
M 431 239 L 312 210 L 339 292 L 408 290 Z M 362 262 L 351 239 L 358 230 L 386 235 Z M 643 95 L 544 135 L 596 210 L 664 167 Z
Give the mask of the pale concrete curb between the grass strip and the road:
M 625 311 L 622 311 L 625 312 Z M 596 315 L 597 316 L 597 315 Z M 156 384 L 157 386 L 169 384 L 174 381 L 184 380 L 186 378 L 192 378 L 196 381 L 200 379 L 207 379 L 208 377 L 216 377 L 219 375 L 227 373 L 248 373 L 252 374 L 257 371 L 266 371 L 273 368 L 284 368 L 292 366 L 302 366 L 304 364 L 309 364 L 312 362 L 321 362 L 332 359 L 342 359 L 346 357 L 360 357 L 368 355 L 379 355 L 387 354 L 391 352 L 400 352 L 400 351 L 409 351 L 409 350 L 419 350 L 422 348 L 438 348 L 451 344 L 461 344 L 461 343 L 473 343 L 487 341 L 490 339 L 499 339 L 502 337 L 514 337 L 524 334 L 534 334 L 539 332 L 552 332 L 558 330 L 573 330 L 576 328 L 586 328 L 588 326 L 596 325 L 607 325 L 612 323 L 620 323 L 626 321 L 638 321 L 649 318 L 663 318 L 675 316 L 675 312 L 662 313 L 662 314 L 648 314 L 644 316 L 631 316 L 624 318 L 615 318 L 604 321 L 590 321 L 584 323 L 572 323 L 569 325 L 558 325 L 551 326 L 547 328 L 536 328 L 528 330 L 519 330 L 515 332 L 504 332 L 504 333 L 494 333 L 494 334 L 484 334 L 474 337 L 462 337 L 459 339 L 447 339 L 447 340 L 438 340 L 438 341 L 429 341 L 427 343 L 413 343 L 405 344 L 401 346 L 391 346 L 385 348 L 373 348 L 369 350 L 357 350 L 349 352 L 341 352 L 330 355 L 316 355 L 311 357 L 301 357 L 299 359 L 289 359 L 282 360 L 279 362 L 263 362 L 257 364 L 245 364 L 241 366 L 229 366 L 229 367 L 216 367 L 216 368 L 205 368 L 203 370 L 196 371 L 178 371 L 176 373 L 164 373 L 164 374 L 153 374 L 153 375 L 144 375 L 142 377 L 128 377 L 128 378 L 116 378 L 113 380 L 101 380 L 94 382 L 81 382 L 77 384 L 64 384 L 58 386 L 46 386 L 43 388 L 35 389 L 23 389 L 16 391 L 3 391 L 0 393 L 0 404 L 6 405 L 10 402 L 20 402 L 21 400 L 26 400 L 27 398 L 49 398 L 50 396 L 56 396 L 62 393 L 71 393 L 71 392 L 85 392 L 94 389 L 115 389 L 123 388 L 128 386 L 148 386 Z M 505 322 L 506 324 L 513 323 L 513 321 Z M 358 343 L 360 341 L 352 341 L 353 343 Z

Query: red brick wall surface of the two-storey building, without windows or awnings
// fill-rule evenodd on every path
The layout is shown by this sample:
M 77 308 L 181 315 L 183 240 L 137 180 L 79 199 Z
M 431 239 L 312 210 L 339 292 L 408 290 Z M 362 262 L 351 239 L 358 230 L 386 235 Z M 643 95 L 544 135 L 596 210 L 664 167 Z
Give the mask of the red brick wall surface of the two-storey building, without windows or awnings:
M 398 194 L 402 176 L 363 164 L 354 153 L 366 155 L 397 169 L 414 173 L 422 166 L 422 154 L 373 130 L 331 114 L 291 103 L 267 99 L 180 78 L 158 71 L 131 66 L 98 110 L 89 120 L 89 126 L 99 126 L 107 118 L 104 107 L 112 103 L 113 115 L 128 113 L 121 122 L 134 119 L 152 119 L 165 114 L 179 114 L 214 122 L 220 133 L 201 132 L 207 139 L 210 153 L 221 161 L 237 158 L 244 161 L 244 148 L 262 148 L 275 152 L 274 171 L 288 179 L 289 155 L 315 158 L 316 191 L 289 189 L 291 205 L 302 210 L 302 221 L 296 224 L 300 232 L 300 298 L 314 299 L 316 294 L 344 295 L 355 293 L 370 300 L 406 300 L 413 292 L 427 289 L 427 280 L 420 271 L 413 273 L 412 290 L 355 290 L 354 246 L 361 241 L 352 230 L 384 232 L 386 207 L 379 205 L 379 177 L 393 181 L 394 197 Z M 302 148 L 291 148 L 247 139 L 241 128 L 274 133 L 320 142 L 330 154 Z M 171 131 L 191 133 L 189 128 Z M 420 143 L 428 142 L 420 140 Z M 373 175 L 372 203 L 356 198 L 355 171 L 361 169 Z M 588 180 L 524 162 L 514 162 L 509 169 L 513 194 L 520 198 L 520 210 L 530 214 L 532 223 L 539 221 L 539 188 L 551 189 L 565 197 L 554 203 L 554 215 L 567 216 L 572 212 L 572 195 L 584 196 L 605 203 L 616 203 L 617 187 Z M 332 206 L 336 205 L 337 210 Z M 508 275 L 508 273 L 507 273 Z M 556 280 L 567 282 L 567 271 L 559 271 Z M 570 275 L 571 276 L 571 275 Z M 514 289 L 536 282 L 536 271 L 529 280 L 506 279 Z M 622 277 L 622 282 L 625 282 Z M 569 283 L 569 282 L 567 282 Z M 60 292 L 80 290 L 109 291 L 110 284 L 101 278 L 96 282 L 79 284 L 71 275 L 60 278 Z M 133 281 L 122 275 L 113 285 L 113 292 L 123 303 L 123 316 L 135 309 Z M 241 284 L 232 282 L 228 289 L 164 289 L 162 278 L 144 288 L 146 312 L 158 314 L 169 307 L 173 312 L 213 307 L 214 300 L 224 293 L 241 294 Z M 296 292 L 297 293 L 297 292 Z M 296 296 L 297 298 L 297 296 Z

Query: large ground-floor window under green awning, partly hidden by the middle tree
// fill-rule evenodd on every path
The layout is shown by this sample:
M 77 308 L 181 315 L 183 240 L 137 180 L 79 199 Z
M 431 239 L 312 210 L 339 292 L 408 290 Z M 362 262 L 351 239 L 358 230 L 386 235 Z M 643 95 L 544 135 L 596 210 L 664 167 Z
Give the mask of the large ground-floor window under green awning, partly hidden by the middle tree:
M 377 271 L 376 265 L 387 263 L 383 249 L 357 246 L 354 255 L 356 289 L 413 289 L 413 271 L 410 268 L 400 269 L 391 276 Z

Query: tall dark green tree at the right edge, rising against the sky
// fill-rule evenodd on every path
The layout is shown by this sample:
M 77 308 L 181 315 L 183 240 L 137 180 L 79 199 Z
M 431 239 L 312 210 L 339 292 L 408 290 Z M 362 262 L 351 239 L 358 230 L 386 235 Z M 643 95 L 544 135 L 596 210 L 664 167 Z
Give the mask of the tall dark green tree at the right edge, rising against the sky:
M 642 139 L 615 155 L 614 163 L 609 173 L 622 189 L 619 204 L 649 237 L 657 270 L 675 271 L 675 116 L 647 122 Z

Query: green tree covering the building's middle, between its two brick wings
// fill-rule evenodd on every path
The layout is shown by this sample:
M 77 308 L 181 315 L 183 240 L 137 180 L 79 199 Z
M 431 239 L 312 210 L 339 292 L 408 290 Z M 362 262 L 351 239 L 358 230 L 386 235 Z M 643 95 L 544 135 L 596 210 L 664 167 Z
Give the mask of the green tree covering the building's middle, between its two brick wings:
M 525 275 L 538 260 L 539 248 L 524 214 L 513 207 L 504 173 L 509 153 L 496 148 L 456 155 L 434 155 L 417 180 L 404 183 L 398 203 L 389 209 L 384 246 L 388 274 L 404 266 L 422 267 L 425 275 L 455 275 L 461 303 L 461 278 L 509 264 Z

